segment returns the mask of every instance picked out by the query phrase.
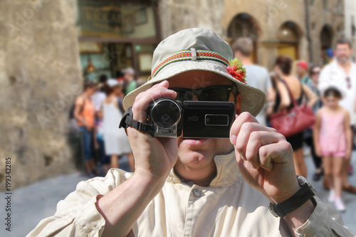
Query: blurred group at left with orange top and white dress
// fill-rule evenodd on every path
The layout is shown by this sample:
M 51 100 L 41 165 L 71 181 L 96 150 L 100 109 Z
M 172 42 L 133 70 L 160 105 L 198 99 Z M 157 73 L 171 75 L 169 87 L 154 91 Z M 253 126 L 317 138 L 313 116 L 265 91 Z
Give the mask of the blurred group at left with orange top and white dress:
M 98 81 L 85 80 L 84 91 L 71 110 L 72 128 L 83 140 L 83 157 L 88 177 L 104 176 L 110 168 L 119 168 L 119 159 L 126 155 L 130 169 L 135 171 L 130 143 L 125 130 L 118 125 L 125 112 L 122 100 L 140 86 L 135 70 L 122 70 L 122 77 L 100 75 Z M 116 129 L 115 129 L 116 128 Z M 103 169 L 98 169 L 98 166 Z

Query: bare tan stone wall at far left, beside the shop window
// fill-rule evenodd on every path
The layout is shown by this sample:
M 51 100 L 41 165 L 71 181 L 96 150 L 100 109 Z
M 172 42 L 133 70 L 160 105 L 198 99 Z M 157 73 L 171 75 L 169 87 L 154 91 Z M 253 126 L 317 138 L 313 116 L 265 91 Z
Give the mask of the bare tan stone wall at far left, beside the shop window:
M 73 172 L 68 110 L 82 88 L 74 0 L 0 1 L 0 189 Z

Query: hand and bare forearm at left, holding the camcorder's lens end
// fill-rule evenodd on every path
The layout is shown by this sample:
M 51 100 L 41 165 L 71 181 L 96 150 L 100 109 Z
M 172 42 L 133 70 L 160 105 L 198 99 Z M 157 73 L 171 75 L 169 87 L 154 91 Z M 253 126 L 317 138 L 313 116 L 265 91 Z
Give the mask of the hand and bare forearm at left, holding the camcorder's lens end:
M 132 106 L 133 119 L 147 121 L 147 107 L 159 98 L 175 98 L 168 82 L 154 85 L 137 95 Z M 177 139 L 155 138 L 127 127 L 127 135 L 135 157 L 135 173 L 110 191 L 99 196 L 96 207 L 105 218 L 104 236 L 127 236 L 142 211 L 162 190 L 164 181 L 178 158 Z

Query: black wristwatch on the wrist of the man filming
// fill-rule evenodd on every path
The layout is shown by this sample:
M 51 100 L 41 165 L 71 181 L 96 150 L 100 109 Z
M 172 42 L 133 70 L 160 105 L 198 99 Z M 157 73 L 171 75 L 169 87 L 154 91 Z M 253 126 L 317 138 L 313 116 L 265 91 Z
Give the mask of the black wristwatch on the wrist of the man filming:
M 300 206 L 305 204 L 306 201 L 311 199 L 315 193 L 308 184 L 302 184 L 301 189 L 299 189 L 293 196 L 291 196 L 286 201 L 281 204 L 269 204 L 268 209 L 271 211 L 273 216 L 283 217 L 290 212 L 298 209 Z

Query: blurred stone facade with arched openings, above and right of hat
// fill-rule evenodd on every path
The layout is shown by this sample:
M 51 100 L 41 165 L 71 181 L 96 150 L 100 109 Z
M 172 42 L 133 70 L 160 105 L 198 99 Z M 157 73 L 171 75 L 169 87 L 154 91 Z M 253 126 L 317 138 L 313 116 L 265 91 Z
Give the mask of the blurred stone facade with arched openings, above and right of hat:
M 253 60 L 269 69 L 283 54 L 323 64 L 344 32 L 342 0 L 162 0 L 160 10 L 163 38 L 190 27 L 210 28 L 229 43 L 251 37 Z

